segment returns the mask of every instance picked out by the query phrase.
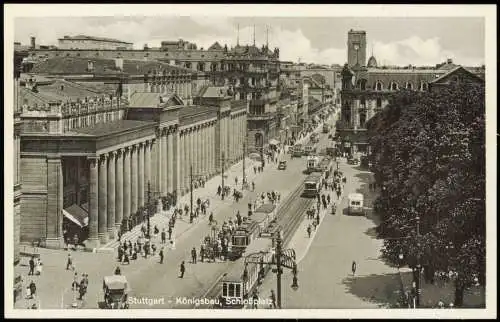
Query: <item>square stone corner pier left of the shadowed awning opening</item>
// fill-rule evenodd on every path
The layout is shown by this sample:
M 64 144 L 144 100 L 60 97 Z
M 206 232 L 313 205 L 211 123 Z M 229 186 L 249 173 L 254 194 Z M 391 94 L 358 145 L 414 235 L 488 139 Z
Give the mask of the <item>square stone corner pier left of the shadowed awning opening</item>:
M 63 185 L 61 157 L 47 158 L 47 235 L 45 241 L 48 248 L 59 249 L 63 246 Z

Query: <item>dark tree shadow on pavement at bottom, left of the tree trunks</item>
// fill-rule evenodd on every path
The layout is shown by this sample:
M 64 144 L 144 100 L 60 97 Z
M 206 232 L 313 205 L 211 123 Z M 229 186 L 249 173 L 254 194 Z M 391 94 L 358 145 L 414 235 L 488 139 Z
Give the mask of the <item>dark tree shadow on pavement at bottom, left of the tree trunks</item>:
M 347 287 L 347 292 L 383 308 L 398 307 L 400 283 L 397 273 L 349 276 L 342 281 Z

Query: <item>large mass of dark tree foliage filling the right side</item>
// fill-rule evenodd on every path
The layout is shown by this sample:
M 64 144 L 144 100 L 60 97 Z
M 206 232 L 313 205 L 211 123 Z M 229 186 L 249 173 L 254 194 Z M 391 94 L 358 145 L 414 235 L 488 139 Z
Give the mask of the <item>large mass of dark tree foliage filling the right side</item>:
M 457 306 L 485 275 L 484 97 L 481 84 L 402 91 L 368 123 L 383 255 L 454 272 Z

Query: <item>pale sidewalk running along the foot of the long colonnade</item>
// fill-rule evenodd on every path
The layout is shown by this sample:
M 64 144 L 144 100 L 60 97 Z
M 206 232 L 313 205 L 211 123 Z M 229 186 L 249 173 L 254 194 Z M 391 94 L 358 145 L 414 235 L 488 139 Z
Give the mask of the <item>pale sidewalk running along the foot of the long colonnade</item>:
M 259 175 L 259 173 L 255 174 L 253 171 L 253 166 L 257 165 L 257 163 L 259 163 L 259 162 L 251 160 L 249 158 L 247 158 L 245 160 L 245 162 L 246 162 L 245 172 L 246 172 L 247 182 L 249 184 L 251 184 L 251 182 L 255 179 L 255 177 L 257 175 Z M 264 171 L 265 171 L 265 168 L 264 168 Z M 227 171 L 224 172 L 224 176 L 226 177 L 225 178 L 226 181 L 224 184 L 226 186 L 233 187 L 234 186 L 234 178 L 238 177 L 238 186 L 240 186 L 241 182 L 242 182 L 242 173 L 243 173 L 243 160 L 234 164 L 231 168 L 229 168 Z M 199 188 L 193 190 L 194 202 L 196 202 L 196 199 L 198 199 L 198 198 L 200 198 L 202 200 L 206 200 L 207 198 L 209 198 L 210 206 L 207 209 L 207 214 L 209 214 L 210 212 L 215 213 L 215 211 L 217 210 L 217 208 L 221 204 L 225 204 L 226 200 L 232 201 L 231 196 L 226 197 L 226 199 L 224 201 L 220 200 L 220 198 L 218 198 L 216 196 L 217 187 L 221 184 L 221 181 L 222 181 L 221 174 L 218 174 L 218 175 L 212 177 L 211 179 L 209 179 L 205 183 L 205 187 L 199 187 Z M 189 205 L 190 198 L 191 198 L 190 193 L 186 193 L 185 195 L 180 197 L 178 200 L 177 207 L 183 207 L 185 204 Z M 150 219 L 150 227 L 151 227 L 150 229 L 153 230 L 153 227 L 155 225 L 158 226 L 160 231 L 163 228 L 166 228 L 166 226 L 168 226 L 168 221 L 169 221 L 170 217 L 172 216 L 174 209 L 175 208 L 172 207 L 168 211 L 162 210 L 162 211 L 155 213 Z M 189 216 L 183 215 L 182 217 L 178 217 L 174 231 L 172 233 L 173 239 L 174 240 L 178 239 L 182 234 L 184 234 L 185 232 L 187 232 L 191 228 L 193 228 L 196 225 L 196 223 L 201 220 L 201 218 L 203 218 L 203 217 L 194 218 L 193 223 L 190 223 Z M 137 238 L 140 235 L 141 235 L 141 225 L 137 225 L 134 228 L 132 228 L 131 231 L 128 231 L 125 234 L 123 234 L 123 236 L 121 237 L 121 240 L 122 241 L 124 241 L 124 240 L 129 241 L 130 240 L 133 243 L 137 240 Z M 116 239 L 116 240 L 113 240 L 113 241 L 109 242 L 108 244 L 102 246 L 97 251 L 98 252 L 111 252 L 111 251 L 114 251 L 114 249 L 116 249 L 118 246 L 119 246 L 119 242 Z

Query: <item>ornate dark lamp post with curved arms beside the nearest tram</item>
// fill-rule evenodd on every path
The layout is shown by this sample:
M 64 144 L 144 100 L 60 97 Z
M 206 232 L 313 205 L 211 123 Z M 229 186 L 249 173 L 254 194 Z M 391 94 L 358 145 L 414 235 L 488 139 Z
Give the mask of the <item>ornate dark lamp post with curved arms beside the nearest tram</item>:
M 272 256 L 272 260 L 270 262 L 265 262 L 263 259 L 263 256 L 266 254 L 266 252 L 253 253 L 245 257 L 245 269 L 243 270 L 243 277 L 245 278 L 246 276 L 246 278 L 248 278 L 247 265 L 250 263 L 261 265 L 259 271 L 259 281 L 264 278 L 264 264 L 276 265 L 276 268 L 273 268 L 272 271 L 273 273 L 276 273 L 276 306 L 281 309 L 281 275 L 283 274 L 283 267 L 292 270 L 293 282 L 290 287 L 294 291 L 298 290 L 299 288 L 298 270 L 297 263 L 295 262 L 295 250 L 291 248 L 283 250 L 282 248 L 283 238 L 281 237 L 280 230 L 276 233 L 276 237 L 274 240 L 276 243 L 276 247 L 274 251 L 271 251 L 274 256 Z

